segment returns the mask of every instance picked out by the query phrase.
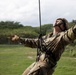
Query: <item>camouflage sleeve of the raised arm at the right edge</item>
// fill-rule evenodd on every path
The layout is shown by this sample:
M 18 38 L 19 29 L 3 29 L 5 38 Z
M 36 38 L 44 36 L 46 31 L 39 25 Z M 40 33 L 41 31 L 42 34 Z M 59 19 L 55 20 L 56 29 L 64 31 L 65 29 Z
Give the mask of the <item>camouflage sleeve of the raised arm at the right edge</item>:
M 65 45 L 73 42 L 76 39 L 76 25 L 65 31 L 62 38 L 64 40 Z

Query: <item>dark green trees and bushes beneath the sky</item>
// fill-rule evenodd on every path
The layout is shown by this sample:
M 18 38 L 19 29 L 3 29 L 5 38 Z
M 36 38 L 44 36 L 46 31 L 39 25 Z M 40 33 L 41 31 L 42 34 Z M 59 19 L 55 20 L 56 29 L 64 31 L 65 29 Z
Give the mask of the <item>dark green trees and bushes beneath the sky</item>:
M 76 20 L 69 22 L 69 27 L 76 24 Z M 42 34 L 45 35 L 52 32 L 52 24 L 42 25 Z M 25 38 L 35 38 L 38 37 L 40 33 L 39 27 L 24 26 L 19 22 L 14 21 L 1 21 L 0 22 L 0 44 L 13 44 L 12 41 L 8 40 L 7 37 L 13 36 L 15 34 L 25 37 Z

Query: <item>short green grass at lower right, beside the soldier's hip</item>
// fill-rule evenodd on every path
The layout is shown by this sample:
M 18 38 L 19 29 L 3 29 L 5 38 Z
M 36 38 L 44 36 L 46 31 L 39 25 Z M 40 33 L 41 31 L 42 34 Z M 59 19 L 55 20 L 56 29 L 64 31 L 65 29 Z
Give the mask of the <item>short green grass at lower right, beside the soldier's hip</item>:
M 76 59 L 62 57 L 58 62 L 54 75 L 76 75 Z

